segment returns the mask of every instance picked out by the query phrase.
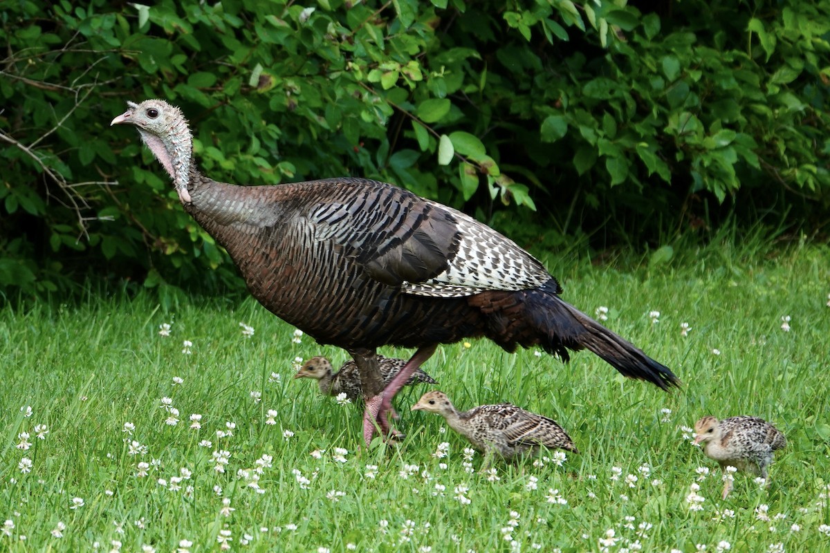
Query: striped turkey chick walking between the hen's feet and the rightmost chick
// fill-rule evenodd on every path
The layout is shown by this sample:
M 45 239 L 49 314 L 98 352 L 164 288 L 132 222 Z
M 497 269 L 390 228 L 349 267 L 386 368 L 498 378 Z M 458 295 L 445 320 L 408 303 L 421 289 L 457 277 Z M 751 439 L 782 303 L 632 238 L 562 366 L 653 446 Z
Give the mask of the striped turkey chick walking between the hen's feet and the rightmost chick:
M 579 453 L 564 429 L 542 415 L 510 403 L 480 405 L 460 412 L 441 391 L 428 391 L 412 407 L 413 411 L 437 413 L 450 428 L 461 434 L 489 458 L 498 455 L 507 461 L 523 454 L 539 453 L 540 445 Z

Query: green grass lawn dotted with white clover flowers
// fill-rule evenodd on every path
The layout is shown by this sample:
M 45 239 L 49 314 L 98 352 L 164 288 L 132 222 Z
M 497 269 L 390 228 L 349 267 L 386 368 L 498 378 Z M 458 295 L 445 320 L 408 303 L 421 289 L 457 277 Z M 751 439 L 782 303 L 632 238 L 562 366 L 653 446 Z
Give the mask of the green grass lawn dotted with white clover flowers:
M 292 343 L 294 329 L 251 299 L 193 298 L 176 313 L 162 313 L 147 294 L 90 298 L 79 307 L 2 308 L 0 521 L 14 528 L 11 536 L 0 533 L 0 550 L 85 551 L 98 542 L 99 551 L 110 551 L 116 540 L 123 551 L 144 544 L 174 551 L 188 540 L 190 551 L 207 551 L 218 550 L 217 536 L 227 530 L 234 551 L 344 551 L 349 543 L 358 551 L 511 551 L 502 529 L 516 512 L 510 535 L 522 551 L 535 551 L 532 544 L 598 551 L 610 530 L 618 540 L 610 551 L 636 540 L 642 551 L 696 551 L 696 544 L 716 551 L 720 541 L 730 542 L 730 551 L 769 551 L 779 543 L 787 551 L 830 551 L 830 536 L 820 531 L 830 509 L 819 502 L 830 482 L 830 251 L 807 246 L 747 258 L 721 246 L 654 270 L 643 264 L 618 272 L 567 259 L 549 260 L 549 267 L 567 301 L 590 314 L 607 306 L 606 324 L 671 366 L 685 386 L 666 394 L 625 381 L 588 352 L 564 366 L 486 341 L 440 347 L 424 368 L 458 407 L 512 401 L 558 420 L 582 451 L 562 466 L 496 463 L 497 481 L 481 473 L 480 455 L 475 472 L 465 471 L 467 444 L 442 434 L 437 415 L 409 411 L 427 386 L 398 398 L 398 426 L 408 434 L 402 445 L 359 449 L 359 409 L 291 379 L 295 357 L 325 353 L 339 365 L 344 352 L 309 337 Z M 650 322 L 651 310 L 660 311 L 659 323 Z M 784 315 L 791 332 L 781 329 Z M 256 328 L 254 337 L 242 336 L 241 321 Z M 169 337 L 159 336 L 161 323 L 172 323 Z M 192 355 L 182 353 L 183 340 L 193 342 Z M 281 381 L 271 381 L 271 372 Z M 174 376 L 183 383 L 173 386 Z M 163 397 L 178 409 L 175 426 L 165 424 Z M 26 405 L 31 416 L 21 411 Z M 276 424 L 265 424 L 268 410 L 277 411 Z M 192 413 L 203 415 L 199 430 L 189 428 Z M 738 475 L 730 497 L 720 500 L 720 471 L 681 431 L 709 414 L 757 415 L 784 431 L 789 446 L 776 458 L 769 487 Z M 233 435 L 217 438 L 227 421 L 236 424 Z M 127 422 L 132 435 L 123 431 Z M 45 439 L 37 439 L 36 424 L 46 424 Z M 294 435 L 284 438 L 285 430 Z M 30 449 L 17 448 L 22 432 L 30 434 Z M 204 439 L 212 445 L 200 446 Z M 147 453 L 129 454 L 129 440 Z M 449 455 L 433 458 L 443 441 Z M 345 463 L 334 460 L 335 448 L 349 450 Z M 231 454 L 224 473 L 214 470 L 216 449 Z M 325 449 L 322 458 L 310 455 L 316 449 Z M 258 481 L 264 493 L 257 493 L 247 486 L 250 475 L 237 471 L 255 468 L 263 454 L 272 462 Z M 21 472 L 22 458 L 31 459 L 31 473 Z M 138 478 L 138 463 L 151 459 L 160 466 Z M 367 464 L 378 465 L 376 478 L 364 476 Z M 402 478 L 407 465 L 417 470 Z M 617 481 L 613 467 L 622 471 Z M 703 510 L 694 512 L 686 496 L 698 467 L 711 473 L 699 483 Z M 182 468 L 190 478 L 169 489 Z M 306 489 L 295 470 L 309 479 Z M 632 487 L 628 474 L 637 476 Z M 532 478 L 535 490 L 528 488 Z M 457 500 L 458 486 L 468 488 L 469 504 Z M 567 504 L 548 502 L 550 489 Z M 339 501 L 327 497 L 332 490 L 344 492 Z M 73 497 L 83 498 L 83 507 L 71 509 Z M 235 509 L 229 517 L 221 514 L 222 498 Z M 770 521 L 758 520 L 761 505 Z M 720 520 L 725 510 L 734 517 Z M 66 526 L 60 538 L 51 535 L 59 521 Z M 651 526 L 637 536 L 641 523 Z M 410 524 L 412 535 L 403 536 Z M 793 524 L 800 531 L 791 531 Z

